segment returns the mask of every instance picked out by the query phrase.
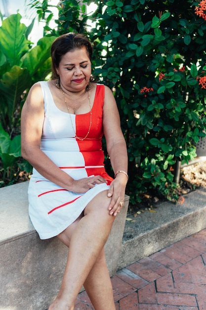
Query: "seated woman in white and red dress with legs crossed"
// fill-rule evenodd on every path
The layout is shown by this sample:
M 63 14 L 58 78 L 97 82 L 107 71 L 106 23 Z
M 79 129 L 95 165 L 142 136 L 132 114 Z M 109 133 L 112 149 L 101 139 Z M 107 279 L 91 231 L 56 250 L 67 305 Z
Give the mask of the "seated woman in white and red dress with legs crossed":
M 34 167 L 29 215 L 41 239 L 57 236 L 69 255 L 48 310 L 73 310 L 84 288 L 95 310 L 115 310 L 104 245 L 124 202 L 127 152 L 111 90 L 92 82 L 90 42 L 69 33 L 51 46 L 53 78 L 29 91 L 22 156 Z M 105 136 L 115 172 L 104 169 Z

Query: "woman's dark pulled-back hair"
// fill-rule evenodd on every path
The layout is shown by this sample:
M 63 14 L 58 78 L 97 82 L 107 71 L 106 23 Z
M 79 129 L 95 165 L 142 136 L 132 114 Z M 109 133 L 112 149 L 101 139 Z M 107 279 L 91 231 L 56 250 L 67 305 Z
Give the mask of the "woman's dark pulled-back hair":
M 56 68 L 58 68 L 62 56 L 75 49 L 86 48 L 91 61 L 92 46 L 89 40 L 82 34 L 69 32 L 54 40 L 51 45 L 52 79 L 58 78 Z

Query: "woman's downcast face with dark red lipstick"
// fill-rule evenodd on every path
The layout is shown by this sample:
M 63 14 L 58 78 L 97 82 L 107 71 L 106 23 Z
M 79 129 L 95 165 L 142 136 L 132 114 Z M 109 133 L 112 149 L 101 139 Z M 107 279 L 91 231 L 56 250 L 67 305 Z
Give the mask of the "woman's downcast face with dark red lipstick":
M 70 92 L 85 89 L 91 76 L 91 62 L 86 48 L 64 54 L 56 71 L 60 77 L 61 87 Z

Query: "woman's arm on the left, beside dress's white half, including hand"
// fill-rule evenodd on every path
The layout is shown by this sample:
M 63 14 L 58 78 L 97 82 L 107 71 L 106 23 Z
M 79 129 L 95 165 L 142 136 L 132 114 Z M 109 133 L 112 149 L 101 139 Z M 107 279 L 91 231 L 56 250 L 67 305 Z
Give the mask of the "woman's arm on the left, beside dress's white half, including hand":
M 43 177 L 76 193 L 86 192 L 95 183 L 102 183 L 102 179 L 93 180 L 93 178 L 74 180 L 41 151 L 43 121 L 43 94 L 40 84 L 36 83 L 29 91 L 21 113 L 22 157 L 28 160 Z

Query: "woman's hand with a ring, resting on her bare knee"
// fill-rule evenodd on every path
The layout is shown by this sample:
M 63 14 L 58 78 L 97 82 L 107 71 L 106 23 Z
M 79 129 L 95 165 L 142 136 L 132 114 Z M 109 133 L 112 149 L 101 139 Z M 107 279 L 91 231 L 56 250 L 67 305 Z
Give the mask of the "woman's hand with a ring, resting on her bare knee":
M 116 216 L 124 205 L 124 194 L 127 179 L 125 175 L 117 175 L 117 177 L 110 184 L 108 190 L 108 197 L 111 197 L 111 202 L 108 207 L 110 215 Z

